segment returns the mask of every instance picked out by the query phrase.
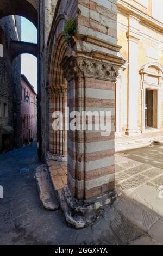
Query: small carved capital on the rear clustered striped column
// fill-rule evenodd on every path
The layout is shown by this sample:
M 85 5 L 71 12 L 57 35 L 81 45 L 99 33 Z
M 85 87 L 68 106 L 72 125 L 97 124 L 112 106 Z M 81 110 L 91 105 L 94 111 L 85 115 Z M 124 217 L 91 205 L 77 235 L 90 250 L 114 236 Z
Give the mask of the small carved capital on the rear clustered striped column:
M 67 84 L 50 84 L 47 87 L 49 97 L 61 97 L 67 95 Z

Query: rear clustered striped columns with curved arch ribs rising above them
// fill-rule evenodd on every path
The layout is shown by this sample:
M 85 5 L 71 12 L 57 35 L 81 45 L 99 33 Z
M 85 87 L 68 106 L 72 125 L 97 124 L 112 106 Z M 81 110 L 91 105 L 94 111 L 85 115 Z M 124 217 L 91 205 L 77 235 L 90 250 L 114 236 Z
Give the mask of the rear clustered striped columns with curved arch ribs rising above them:
M 65 131 L 65 118 L 63 119 L 62 129 L 55 131 L 52 129 L 55 111 L 60 111 L 63 117 L 66 115 L 67 108 L 67 82 L 64 71 L 60 63 L 65 56 L 67 45 L 64 36 L 59 33 L 55 40 L 51 60 L 49 64 L 49 157 L 61 161 L 67 160 L 67 131 Z

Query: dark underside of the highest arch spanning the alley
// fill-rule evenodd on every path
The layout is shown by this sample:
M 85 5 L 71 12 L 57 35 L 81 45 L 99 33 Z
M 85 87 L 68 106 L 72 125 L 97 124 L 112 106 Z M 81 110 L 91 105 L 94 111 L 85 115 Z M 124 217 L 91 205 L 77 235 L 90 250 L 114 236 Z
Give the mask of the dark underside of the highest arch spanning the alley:
M 1 0 L 0 19 L 8 15 L 26 17 L 37 27 L 37 0 Z

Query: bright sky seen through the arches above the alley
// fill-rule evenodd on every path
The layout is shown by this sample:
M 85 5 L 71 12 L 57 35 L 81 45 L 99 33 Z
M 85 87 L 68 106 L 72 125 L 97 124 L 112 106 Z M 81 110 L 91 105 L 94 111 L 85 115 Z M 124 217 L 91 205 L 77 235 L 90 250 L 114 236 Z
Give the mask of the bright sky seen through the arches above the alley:
M 22 39 L 24 42 L 37 43 L 37 29 L 32 22 L 22 17 Z M 22 54 L 22 74 L 34 86 L 37 93 L 37 58 L 31 54 Z

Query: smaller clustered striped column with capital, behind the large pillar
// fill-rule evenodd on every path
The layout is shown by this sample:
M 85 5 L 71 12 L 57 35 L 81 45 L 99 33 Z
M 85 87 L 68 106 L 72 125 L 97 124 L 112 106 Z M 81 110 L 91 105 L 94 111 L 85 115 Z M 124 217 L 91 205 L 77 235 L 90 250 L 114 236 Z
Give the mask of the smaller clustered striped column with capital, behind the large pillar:
M 65 130 L 67 119 L 67 86 L 49 86 L 49 158 L 53 160 L 67 161 L 67 130 Z M 53 122 L 58 115 L 54 112 L 62 113 L 61 127 L 55 130 Z

